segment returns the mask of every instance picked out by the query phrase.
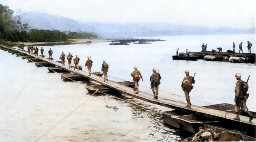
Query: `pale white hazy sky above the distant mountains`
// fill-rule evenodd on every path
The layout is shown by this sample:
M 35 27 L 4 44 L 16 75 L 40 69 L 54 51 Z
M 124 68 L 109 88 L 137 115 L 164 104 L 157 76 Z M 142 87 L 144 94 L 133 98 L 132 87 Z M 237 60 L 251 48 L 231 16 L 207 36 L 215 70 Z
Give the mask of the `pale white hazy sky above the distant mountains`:
M 256 0 L 1 0 L 18 12 L 45 12 L 103 23 L 255 27 Z

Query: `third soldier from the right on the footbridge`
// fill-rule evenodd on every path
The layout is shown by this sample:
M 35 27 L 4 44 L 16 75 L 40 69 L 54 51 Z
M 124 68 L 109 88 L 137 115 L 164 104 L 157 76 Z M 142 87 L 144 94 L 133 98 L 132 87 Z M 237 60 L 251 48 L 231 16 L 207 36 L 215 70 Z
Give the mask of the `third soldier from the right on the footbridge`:
M 160 85 L 160 79 L 161 79 L 161 76 L 159 73 L 157 73 L 157 69 L 156 68 L 153 68 L 153 74 L 151 75 L 150 77 L 150 81 L 151 81 L 151 90 L 154 94 L 154 98 L 158 99 L 158 86 Z

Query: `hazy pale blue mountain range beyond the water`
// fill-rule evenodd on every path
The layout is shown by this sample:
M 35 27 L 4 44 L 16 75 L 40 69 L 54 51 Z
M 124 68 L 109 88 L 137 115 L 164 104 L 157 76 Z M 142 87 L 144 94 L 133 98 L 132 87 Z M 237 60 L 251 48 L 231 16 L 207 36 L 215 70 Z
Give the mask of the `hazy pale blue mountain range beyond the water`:
M 255 34 L 255 27 L 239 29 L 230 27 L 198 27 L 173 25 L 165 23 L 126 23 L 106 24 L 89 22 L 86 24 L 47 13 L 24 12 L 21 22 L 28 23 L 31 28 L 42 30 L 59 30 L 71 32 L 92 32 L 102 38 L 133 38 L 140 36 L 170 36 L 170 35 L 209 35 L 209 34 Z

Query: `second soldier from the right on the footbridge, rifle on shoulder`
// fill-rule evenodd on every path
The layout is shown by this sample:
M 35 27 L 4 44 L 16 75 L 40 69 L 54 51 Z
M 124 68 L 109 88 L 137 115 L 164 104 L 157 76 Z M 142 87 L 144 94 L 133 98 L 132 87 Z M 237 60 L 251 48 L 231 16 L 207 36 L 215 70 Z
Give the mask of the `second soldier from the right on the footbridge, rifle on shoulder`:
M 189 92 L 191 92 L 191 90 L 194 88 L 194 86 L 192 84 L 195 83 L 194 77 L 189 76 L 189 71 L 186 70 L 185 71 L 186 77 L 184 77 L 183 81 L 182 81 L 182 89 L 185 92 L 185 96 L 186 96 L 186 101 L 188 103 L 188 105 L 186 107 L 190 107 L 191 103 L 190 103 L 190 98 L 189 98 Z

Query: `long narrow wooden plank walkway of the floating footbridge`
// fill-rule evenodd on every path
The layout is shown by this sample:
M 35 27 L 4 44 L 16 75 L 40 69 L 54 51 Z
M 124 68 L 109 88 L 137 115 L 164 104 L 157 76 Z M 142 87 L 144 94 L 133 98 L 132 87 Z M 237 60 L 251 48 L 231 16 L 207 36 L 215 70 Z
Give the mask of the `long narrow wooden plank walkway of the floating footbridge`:
M 12 50 L 19 51 L 17 49 L 12 49 Z M 24 52 L 21 51 L 21 53 L 24 53 Z M 184 111 L 187 111 L 187 112 L 191 112 L 191 114 L 202 115 L 202 116 L 205 116 L 205 117 L 208 117 L 208 118 L 217 118 L 217 119 L 218 118 L 225 118 L 225 119 L 229 119 L 230 121 L 236 121 L 236 120 L 233 119 L 236 116 L 236 114 L 234 114 L 234 113 L 223 112 L 223 111 L 219 111 L 219 110 L 216 110 L 216 109 L 209 109 L 209 108 L 199 107 L 199 106 L 194 106 L 194 105 L 192 105 L 191 108 L 188 108 L 188 107 L 185 107 L 186 103 L 181 102 L 179 100 L 178 101 L 177 100 L 170 100 L 170 99 L 162 98 L 162 97 L 158 97 L 158 99 L 154 99 L 152 94 L 149 94 L 149 93 L 146 93 L 146 92 L 139 92 L 139 94 L 135 94 L 135 92 L 133 91 L 132 88 L 121 85 L 121 84 L 116 83 L 114 81 L 108 80 L 108 81 L 104 82 L 104 78 L 96 76 L 94 74 L 89 76 L 89 73 L 86 72 L 86 71 L 80 71 L 80 70 L 77 71 L 77 69 L 74 71 L 74 68 L 68 68 L 67 65 L 62 66 L 62 64 L 59 63 L 59 62 L 56 62 L 56 61 L 53 61 L 53 60 L 50 61 L 49 59 L 41 58 L 39 56 L 35 56 L 34 54 L 28 54 L 28 53 L 25 53 L 25 54 L 27 54 L 29 56 L 33 56 L 34 58 L 37 58 L 37 59 L 41 59 L 45 62 L 48 62 L 49 64 L 56 65 L 59 68 L 63 68 L 65 70 L 73 72 L 74 74 L 78 74 L 80 76 L 86 77 L 89 80 L 93 80 L 93 81 L 95 81 L 97 83 L 100 83 L 104 86 L 108 86 L 108 87 L 110 87 L 112 89 L 115 89 L 119 92 L 123 92 L 126 95 L 130 95 L 130 96 L 133 96 L 135 98 L 139 98 L 143 101 L 147 101 L 147 102 L 152 103 L 152 104 L 158 104 L 160 106 L 169 107 L 169 108 L 172 108 L 172 109 L 184 110 Z M 177 98 L 177 95 L 170 94 L 170 98 Z M 183 99 L 185 99 L 185 98 L 183 98 Z M 249 117 L 242 116 L 242 115 L 240 115 L 240 119 L 241 120 L 237 121 L 237 122 L 242 122 L 244 124 L 249 124 L 251 126 L 256 126 L 256 119 L 253 119 L 251 122 L 249 122 Z

